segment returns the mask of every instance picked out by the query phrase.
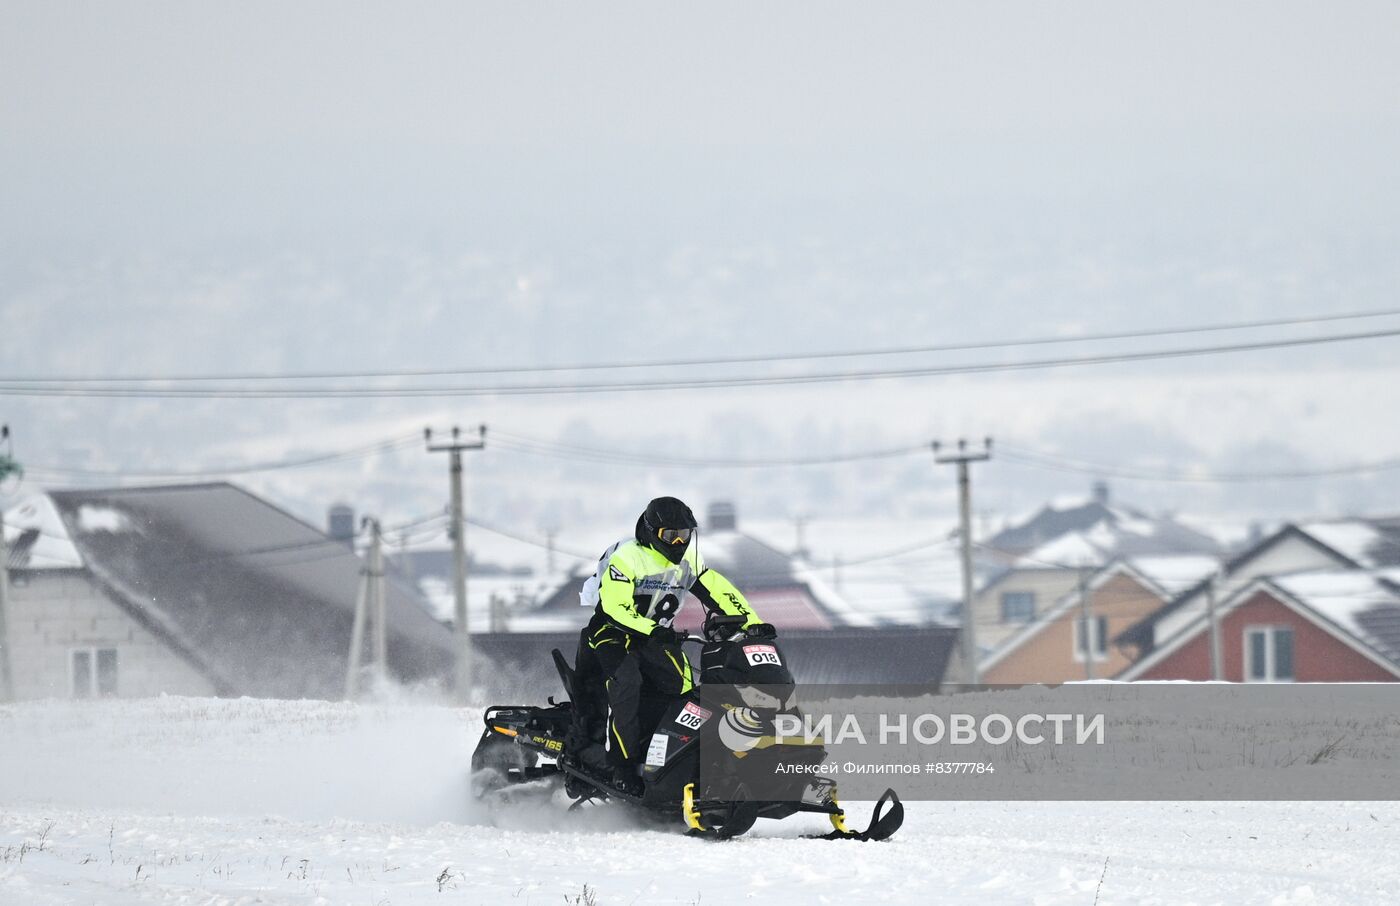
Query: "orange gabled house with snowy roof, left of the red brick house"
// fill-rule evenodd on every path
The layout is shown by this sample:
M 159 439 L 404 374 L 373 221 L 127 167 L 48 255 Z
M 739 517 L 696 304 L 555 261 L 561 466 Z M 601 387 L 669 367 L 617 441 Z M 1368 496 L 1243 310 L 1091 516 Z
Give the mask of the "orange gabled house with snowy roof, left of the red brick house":
M 1120 557 L 1098 570 L 1070 571 L 1078 581 L 1044 612 L 981 661 L 986 683 L 1061 683 L 1114 676 L 1135 650 L 1109 640 L 1158 611 L 1183 588 L 1218 569 L 1210 556 Z

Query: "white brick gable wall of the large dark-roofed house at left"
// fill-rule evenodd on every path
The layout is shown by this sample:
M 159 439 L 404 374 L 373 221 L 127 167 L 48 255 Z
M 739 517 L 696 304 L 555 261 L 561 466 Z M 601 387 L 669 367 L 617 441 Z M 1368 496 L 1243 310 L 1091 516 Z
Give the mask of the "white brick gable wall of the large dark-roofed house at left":
M 11 573 L 8 629 L 17 699 L 66 699 L 74 648 L 116 648 L 116 695 L 211 696 L 214 686 L 85 573 Z

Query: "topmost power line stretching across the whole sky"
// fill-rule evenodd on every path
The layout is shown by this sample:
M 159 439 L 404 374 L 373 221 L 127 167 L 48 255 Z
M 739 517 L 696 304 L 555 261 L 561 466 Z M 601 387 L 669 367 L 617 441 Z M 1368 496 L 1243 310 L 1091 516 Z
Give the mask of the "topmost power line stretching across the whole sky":
M 951 353 L 987 349 L 1015 349 L 1023 346 L 1051 346 L 1064 343 L 1095 343 L 1103 340 L 1128 340 L 1155 336 L 1179 336 L 1189 333 L 1212 333 L 1222 330 L 1250 330 L 1259 328 L 1296 326 L 1337 321 L 1358 321 L 1365 318 L 1386 318 L 1400 315 L 1400 308 L 1354 311 L 1331 315 L 1303 315 L 1296 318 L 1267 318 L 1260 321 L 1236 321 L 1229 323 L 1191 325 L 1180 328 L 1149 328 L 1141 330 L 1116 330 L 1103 333 L 1081 333 L 1077 336 L 1039 336 L 1019 340 L 983 340 L 969 343 L 941 343 L 932 346 L 892 346 L 857 350 L 829 350 L 818 353 L 767 353 L 762 356 L 721 356 L 711 358 L 643 358 L 617 363 L 574 363 L 556 365 L 496 365 L 483 368 L 396 368 L 382 371 L 235 371 L 223 374 L 137 374 L 137 375 L 0 375 L 0 382 L 11 384 L 153 384 L 153 382 L 200 382 L 200 381 L 321 381 L 321 379 L 364 379 L 364 378 L 423 378 L 462 377 L 489 374 L 550 374 L 559 371 L 610 371 L 622 368 L 676 368 L 693 365 L 735 365 L 762 364 L 771 361 L 819 361 L 832 358 L 864 358 L 872 356 L 911 356 L 927 353 Z

